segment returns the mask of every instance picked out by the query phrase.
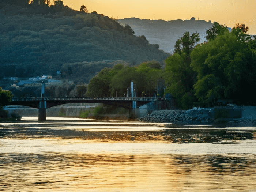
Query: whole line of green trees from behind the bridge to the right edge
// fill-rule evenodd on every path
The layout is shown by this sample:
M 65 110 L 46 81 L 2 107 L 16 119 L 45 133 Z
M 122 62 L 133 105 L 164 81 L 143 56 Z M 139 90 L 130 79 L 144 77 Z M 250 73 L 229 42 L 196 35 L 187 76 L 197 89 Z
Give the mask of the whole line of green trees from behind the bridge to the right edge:
M 256 38 L 247 31 L 244 24 L 230 32 L 214 22 L 201 44 L 197 44 L 200 34 L 186 32 L 165 60 L 165 69 L 156 62 L 105 68 L 90 80 L 86 94 L 122 97 L 133 80 L 137 97 L 171 94 L 180 109 L 219 102 L 256 105 L 252 93 L 256 89 Z

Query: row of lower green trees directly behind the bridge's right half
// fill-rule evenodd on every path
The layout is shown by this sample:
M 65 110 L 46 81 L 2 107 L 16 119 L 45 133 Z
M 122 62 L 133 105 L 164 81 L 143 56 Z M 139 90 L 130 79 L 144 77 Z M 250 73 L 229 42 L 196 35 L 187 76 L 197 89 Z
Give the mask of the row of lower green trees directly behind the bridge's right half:
M 118 64 L 104 68 L 88 84 L 88 96 L 125 97 L 133 80 L 137 97 L 153 97 L 163 91 L 163 71 L 156 61 L 142 63 L 135 67 Z M 158 90 L 157 90 L 158 89 Z M 145 95 L 146 94 L 146 95 Z M 149 94 L 149 95 L 148 95 Z

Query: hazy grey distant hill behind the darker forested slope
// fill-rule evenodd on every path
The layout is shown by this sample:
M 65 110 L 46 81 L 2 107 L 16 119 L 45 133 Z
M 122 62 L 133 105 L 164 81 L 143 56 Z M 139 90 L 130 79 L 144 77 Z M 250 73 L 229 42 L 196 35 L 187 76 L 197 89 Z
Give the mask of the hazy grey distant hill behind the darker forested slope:
M 206 41 L 206 30 L 212 26 L 211 21 L 196 20 L 149 20 L 139 18 L 119 19 L 121 25 L 129 25 L 135 35 L 144 35 L 151 44 L 159 44 L 159 49 L 173 54 L 175 42 L 179 37 L 188 31 L 189 33 L 199 33 L 200 42 Z

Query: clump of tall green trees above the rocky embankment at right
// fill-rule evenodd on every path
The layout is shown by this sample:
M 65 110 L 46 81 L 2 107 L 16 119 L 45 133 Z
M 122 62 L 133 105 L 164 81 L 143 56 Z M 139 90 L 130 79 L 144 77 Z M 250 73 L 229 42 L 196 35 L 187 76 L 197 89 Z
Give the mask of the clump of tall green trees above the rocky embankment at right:
M 247 31 L 244 24 L 229 32 L 214 22 L 207 30 L 208 42 L 194 47 L 197 36 L 186 33 L 178 39 L 175 53 L 166 59 L 166 91 L 177 98 L 180 108 L 213 106 L 218 100 L 256 105 L 256 38 Z M 182 50 L 184 39 L 189 42 L 192 37 L 192 47 L 187 44 Z

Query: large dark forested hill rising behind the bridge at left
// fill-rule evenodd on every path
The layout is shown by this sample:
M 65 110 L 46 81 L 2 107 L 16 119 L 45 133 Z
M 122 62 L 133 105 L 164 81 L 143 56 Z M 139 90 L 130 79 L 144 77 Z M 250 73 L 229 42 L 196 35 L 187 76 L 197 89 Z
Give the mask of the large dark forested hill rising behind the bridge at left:
M 117 63 L 160 63 L 169 56 L 159 45 L 135 36 L 129 26 L 63 5 L 0 2 L 0 78 L 56 75 L 88 83 Z

